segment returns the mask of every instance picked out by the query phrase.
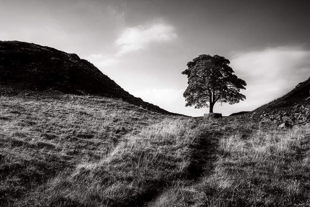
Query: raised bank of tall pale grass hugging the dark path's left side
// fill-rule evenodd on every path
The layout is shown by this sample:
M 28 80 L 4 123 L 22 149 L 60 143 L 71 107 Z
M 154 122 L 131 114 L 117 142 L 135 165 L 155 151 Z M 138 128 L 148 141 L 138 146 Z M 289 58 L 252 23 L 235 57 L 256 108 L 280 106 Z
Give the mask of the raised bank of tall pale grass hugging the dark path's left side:
M 38 189 L 35 194 L 42 197 L 35 200 L 49 204 L 61 197 L 80 205 L 120 206 L 152 196 L 158 187 L 186 173 L 191 155 L 175 151 L 197 142 L 199 131 L 191 129 L 192 122 L 166 118 L 128 134 L 102 159 L 77 164 L 67 177 L 49 185 L 44 196 Z

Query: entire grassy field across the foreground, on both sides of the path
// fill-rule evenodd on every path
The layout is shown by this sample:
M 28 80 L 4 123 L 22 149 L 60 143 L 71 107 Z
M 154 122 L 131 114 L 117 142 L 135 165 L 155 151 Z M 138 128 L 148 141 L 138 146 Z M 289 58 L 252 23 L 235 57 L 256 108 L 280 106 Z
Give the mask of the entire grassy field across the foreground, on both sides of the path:
M 0 206 L 309 206 L 309 130 L 2 96 Z

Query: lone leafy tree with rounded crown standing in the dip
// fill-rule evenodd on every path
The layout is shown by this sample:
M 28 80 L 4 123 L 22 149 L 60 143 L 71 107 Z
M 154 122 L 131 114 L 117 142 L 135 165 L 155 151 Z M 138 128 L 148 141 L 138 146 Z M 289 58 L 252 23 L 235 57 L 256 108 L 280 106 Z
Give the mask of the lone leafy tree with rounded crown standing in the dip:
M 240 89 L 246 89 L 246 82 L 233 74 L 229 64 L 229 60 L 219 55 L 203 54 L 189 61 L 182 72 L 188 78 L 188 87 L 183 93 L 185 106 L 209 107 L 213 113 L 217 101 L 235 104 L 246 99 L 240 93 Z

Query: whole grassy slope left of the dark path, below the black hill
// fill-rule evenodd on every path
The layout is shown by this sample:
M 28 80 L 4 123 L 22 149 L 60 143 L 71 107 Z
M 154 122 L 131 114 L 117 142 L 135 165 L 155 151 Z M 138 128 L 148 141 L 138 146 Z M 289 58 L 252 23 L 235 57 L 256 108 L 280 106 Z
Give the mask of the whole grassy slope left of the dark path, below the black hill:
M 191 118 L 116 99 L 0 100 L 0 115 L 11 116 L 0 121 L 0 202 L 5 206 L 142 203 L 187 176 L 190 148 L 200 134 Z

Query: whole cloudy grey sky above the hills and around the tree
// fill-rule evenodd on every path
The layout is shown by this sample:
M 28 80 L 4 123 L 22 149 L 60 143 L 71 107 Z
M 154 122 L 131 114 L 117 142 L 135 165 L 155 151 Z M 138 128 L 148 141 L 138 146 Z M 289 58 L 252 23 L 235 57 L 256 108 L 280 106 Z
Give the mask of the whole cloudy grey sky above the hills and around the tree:
M 136 97 L 190 116 L 187 76 L 200 54 L 231 62 L 246 100 L 216 103 L 229 115 L 268 103 L 310 76 L 308 1 L 0 0 L 0 40 L 76 53 Z

